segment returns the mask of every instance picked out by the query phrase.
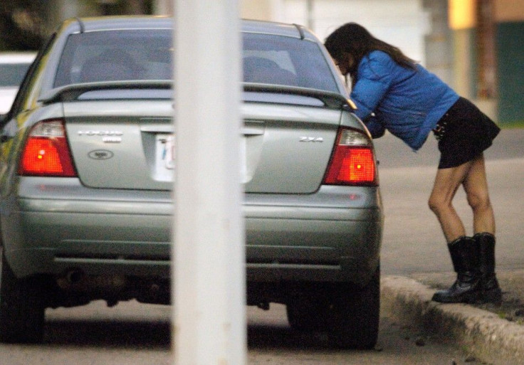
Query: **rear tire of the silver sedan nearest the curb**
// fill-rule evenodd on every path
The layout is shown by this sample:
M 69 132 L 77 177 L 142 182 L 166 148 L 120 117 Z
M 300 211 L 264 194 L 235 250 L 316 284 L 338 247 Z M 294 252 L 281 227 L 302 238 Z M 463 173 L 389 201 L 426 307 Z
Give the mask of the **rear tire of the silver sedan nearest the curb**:
M 372 349 L 377 344 L 380 319 L 380 268 L 362 289 L 340 285 L 327 310 L 330 340 L 335 347 Z

